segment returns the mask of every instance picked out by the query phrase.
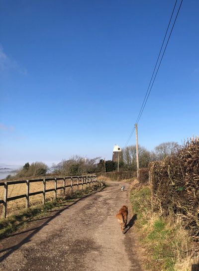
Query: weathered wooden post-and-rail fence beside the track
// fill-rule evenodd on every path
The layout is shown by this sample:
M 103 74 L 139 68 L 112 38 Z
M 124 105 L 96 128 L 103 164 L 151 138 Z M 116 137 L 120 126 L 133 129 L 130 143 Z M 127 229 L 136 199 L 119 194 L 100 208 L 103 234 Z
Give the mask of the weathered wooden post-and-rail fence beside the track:
M 66 181 L 70 180 L 70 184 L 66 185 Z M 63 186 L 57 187 L 57 181 L 63 180 Z M 54 188 L 52 189 L 46 189 L 46 182 L 48 181 L 53 181 L 54 182 Z M 75 183 L 76 181 L 76 183 Z M 42 191 L 37 191 L 37 192 L 32 192 L 29 193 L 30 190 L 30 183 L 33 182 L 43 182 L 43 190 Z M 29 207 L 29 197 L 34 196 L 34 195 L 43 195 L 42 203 L 45 204 L 45 199 L 46 199 L 46 193 L 54 191 L 54 199 L 57 198 L 57 190 L 63 189 L 63 192 L 65 194 L 66 188 L 70 187 L 73 189 L 74 186 L 77 186 L 79 189 L 79 186 L 83 189 L 84 185 L 89 184 L 91 186 L 91 183 L 96 183 L 96 175 L 86 175 L 86 176 L 47 176 L 47 177 L 42 177 L 40 179 L 30 179 L 30 180 L 20 180 L 20 181 L 4 181 L 0 182 L 0 186 L 4 186 L 4 191 L 3 191 L 3 199 L 0 200 L 0 204 L 2 204 L 2 218 L 6 218 L 6 211 L 7 211 L 7 202 L 16 200 L 16 199 L 21 199 L 25 198 L 25 207 Z M 26 193 L 22 195 L 17 195 L 15 197 L 7 197 L 7 191 L 8 191 L 8 186 L 11 184 L 22 184 L 26 183 Z

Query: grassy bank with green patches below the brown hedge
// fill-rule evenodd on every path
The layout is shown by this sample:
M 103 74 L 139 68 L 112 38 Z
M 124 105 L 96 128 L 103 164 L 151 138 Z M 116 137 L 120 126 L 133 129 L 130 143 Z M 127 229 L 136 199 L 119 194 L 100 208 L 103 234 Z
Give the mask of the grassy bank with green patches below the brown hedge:
M 131 203 L 139 242 L 144 248 L 147 271 L 191 271 L 198 264 L 197 245 L 183 228 L 180 219 L 152 211 L 151 189 L 133 188 Z

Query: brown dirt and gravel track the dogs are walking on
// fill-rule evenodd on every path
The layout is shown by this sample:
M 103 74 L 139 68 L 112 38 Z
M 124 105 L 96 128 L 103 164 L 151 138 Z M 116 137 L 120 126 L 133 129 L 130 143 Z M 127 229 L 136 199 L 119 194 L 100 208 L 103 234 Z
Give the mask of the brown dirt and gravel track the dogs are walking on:
M 124 192 L 110 185 L 0 241 L 0 271 L 142 271 L 129 184 Z M 122 234 L 115 214 L 124 204 L 130 228 Z

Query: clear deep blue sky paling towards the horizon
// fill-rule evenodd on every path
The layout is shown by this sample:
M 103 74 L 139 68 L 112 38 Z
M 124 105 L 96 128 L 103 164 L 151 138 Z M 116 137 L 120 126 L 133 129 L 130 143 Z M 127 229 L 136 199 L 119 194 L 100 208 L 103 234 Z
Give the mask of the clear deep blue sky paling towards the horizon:
M 174 3 L 0 0 L 0 162 L 110 159 L 135 124 Z M 149 150 L 199 135 L 198 13 L 198 0 L 183 1 L 138 125 Z

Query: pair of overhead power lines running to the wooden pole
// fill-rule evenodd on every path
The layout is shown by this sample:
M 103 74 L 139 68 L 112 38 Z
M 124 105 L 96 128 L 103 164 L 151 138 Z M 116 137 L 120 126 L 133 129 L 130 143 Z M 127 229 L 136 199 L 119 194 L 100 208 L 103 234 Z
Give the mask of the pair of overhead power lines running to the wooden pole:
M 175 5 L 174 5 L 173 11 L 172 11 L 172 15 L 171 15 L 171 17 L 170 17 L 169 24 L 168 24 L 168 27 L 167 27 L 167 30 L 166 30 L 166 33 L 165 33 L 165 36 L 164 36 L 164 40 L 163 40 L 163 42 L 162 42 L 162 46 L 161 46 L 161 49 L 160 49 L 160 52 L 159 52 L 159 55 L 158 55 L 158 58 L 157 58 L 157 61 L 156 61 L 156 64 L 155 64 L 155 68 L 154 68 L 154 70 L 153 70 L 153 74 L 152 74 L 152 76 L 151 76 L 151 80 L 150 80 L 150 83 L 149 83 L 147 92 L 146 92 L 146 94 L 145 94 L 145 97 L 144 97 L 144 100 L 143 100 L 143 103 L 142 103 L 140 112 L 139 112 L 139 114 L 138 114 L 138 117 L 137 117 L 137 120 L 136 120 L 135 123 L 138 123 L 139 120 L 140 120 L 140 118 L 141 118 L 141 116 L 142 116 L 142 113 L 143 113 L 144 108 L 145 108 L 145 106 L 146 106 L 146 103 L 147 103 L 147 101 L 148 101 L 150 92 L 151 92 L 151 90 L 152 90 L 154 81 L 155 81 L 155 79 L 156 79 L 157 73 L 158 73 L 158 71 L 159 71 L 159 68 L 160 68 L 160 65 L 161 65 L 163 56 L 164 56 L 164 54 L 165 54 L 165 51 L 166 51 L 166 48 L 167 48 L 169 39 L 170 39 L 170 37 L 171 37 L 171 34 L 172 34 L 172 31 L 173 31 L 174 25 L 175 25 L 175 23 L 176 23 L 176 19 L 177 19 L 177 17 L 178 17 L 178 14 L 179 14 L 179 11 L 180 11 L 180 8 L 181 8 L 181 5 L 182 5 L 183 0 L 181 0 L 181 3 L 180 3 L 180 6 L 179 6 L 179 9 L 178 9 L 178 12 L 177 12 L 177 14 L 176 14 L 176 17 L 175 17 L 175 20 L 174 20 L 174 23 L 173 23 L 173 26 L 172 26 L 172 29 L 171 29 L 171 31 L 170 31 L 170 34 L 169 34 L 167 43 L 166 43 L 166 45 L 165 45 L 164 52 L 163 52 L 163 54 L 162 54 L 160 63 L 159 63 L 159 65 L 158 65 L 157 71 L 156 71 L 156 73 L 155 73 L 155 77 L 154 77 L 154 79 L 153 79 L 153 75 L 154 75 L 155 69 L 156 69 L 156 67 L 157 67 L 157 63 L 158 63 L 159 57 L 160 57 L 160 55 L 161 55 L 161 51 L 162 51 L 162 48 L 163 48 L 163 45 L 164 45 L 164 42 L 165 42 L 165 38 L 166 38 L 166 35 L 167 35 L 167 32 L 168 32 L 170 23 L 171 23 L 171 20 L 172 20 L 172 17 L 173 17 L 173 13 L 174 13 L 174 10 L 175 10 L 177 1 L 178 1 L 178 0 L 176 0 L 176 2 L 175 2 Z M 152 82 L 152 79 L 153 79 L 153 82 Z M 152 85 L 151 85 L 151 82 L 152 82 Z M 151 87 L 150 87 L 150 85 L 151 85 Z M 150 89 L 150 90 L 149 90 L 149 89 Z M 126 147 L 126 145 L 128 144 L 128 142 L 130 141 L 130 138 L 131 138 L 131 136 L 133 135 L 134 131 L 135 131 L 135 128 L 131 131 L 131 134 L 130 134 L 130 136 L 128 137 L 128 139 L 127 139 L 126 144 L 125 144 L 124 147 Z

